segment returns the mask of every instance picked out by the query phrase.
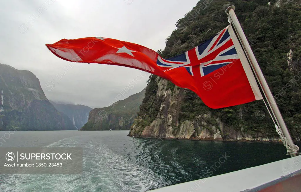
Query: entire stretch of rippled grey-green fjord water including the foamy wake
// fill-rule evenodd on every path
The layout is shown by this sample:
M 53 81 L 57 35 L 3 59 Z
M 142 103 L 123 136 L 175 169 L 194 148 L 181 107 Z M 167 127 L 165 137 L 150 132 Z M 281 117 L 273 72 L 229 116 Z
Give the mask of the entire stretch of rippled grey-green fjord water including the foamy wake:
M 83 174 L 2 174 L 0 191 L 148 191 L 289 157 L 279 143 L 132 138 L 128 132 L 13 132 L 1 147 L 82 147 Z

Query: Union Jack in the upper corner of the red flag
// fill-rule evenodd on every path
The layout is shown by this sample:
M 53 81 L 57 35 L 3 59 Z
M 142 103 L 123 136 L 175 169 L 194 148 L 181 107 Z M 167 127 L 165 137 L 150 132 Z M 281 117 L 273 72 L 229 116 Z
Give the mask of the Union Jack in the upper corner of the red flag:
M 185 67 L 194 77 L 207 75 L 239 59 L 228 27 L 203 44 L 170 59 L 158 56 L 157 65 L 164 72 Z

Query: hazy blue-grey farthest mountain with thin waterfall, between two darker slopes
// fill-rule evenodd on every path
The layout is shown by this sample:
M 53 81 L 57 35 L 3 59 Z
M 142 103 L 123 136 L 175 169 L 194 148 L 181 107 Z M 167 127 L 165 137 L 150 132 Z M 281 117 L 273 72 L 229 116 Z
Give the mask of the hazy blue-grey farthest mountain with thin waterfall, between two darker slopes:
M 91 107 L 85 105 L 58 104 L 53 101 L 50 102 L 57 111 L 66 114 L 77 129 L 80 129 L 88 122 L 89 112 L 92 110 Z

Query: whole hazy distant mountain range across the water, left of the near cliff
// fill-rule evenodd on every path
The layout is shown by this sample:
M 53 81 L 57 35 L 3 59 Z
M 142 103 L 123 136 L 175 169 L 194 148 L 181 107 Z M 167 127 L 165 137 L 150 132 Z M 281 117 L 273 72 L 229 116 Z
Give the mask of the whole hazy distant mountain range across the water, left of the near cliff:
M 0 64 L 0 131 L 129 130 L 144 93 L 145 89 L 93 110 L 85 105 L 62 104 L 46 98 L 32 72 Z

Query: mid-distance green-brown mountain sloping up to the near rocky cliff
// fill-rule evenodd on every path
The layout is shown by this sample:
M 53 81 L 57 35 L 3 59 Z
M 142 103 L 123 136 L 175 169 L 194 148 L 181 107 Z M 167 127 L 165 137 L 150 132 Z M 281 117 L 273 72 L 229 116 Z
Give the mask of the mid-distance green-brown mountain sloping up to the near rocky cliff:
M 129 130 L 137 117 L 144 93 L 145 89 L 108 107 L 93 109 L 81 130 Z

